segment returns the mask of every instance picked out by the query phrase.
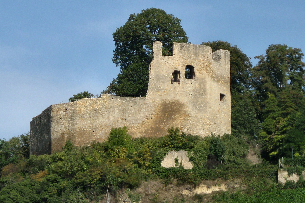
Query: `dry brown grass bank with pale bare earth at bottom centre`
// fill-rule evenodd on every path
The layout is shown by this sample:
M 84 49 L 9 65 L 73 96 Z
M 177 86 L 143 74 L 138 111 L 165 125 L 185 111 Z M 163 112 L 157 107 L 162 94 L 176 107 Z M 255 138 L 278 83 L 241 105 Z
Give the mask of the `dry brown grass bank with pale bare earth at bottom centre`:
M 220 194 L 223 191 L 236 192 L 246 189 L 239 179 L 224 181 L 224 180 L 203 180 L 198 187 L 194 188 L 191 185 L 177 185 L 174 181 L 171 184 L 163 184 L 161 180 L 149 180 L 142 182 L 142 185 L 131 191 L 133 194 L 141 196 L 141 203 L 156 203 L 156 202 L 211 202 L 214 195 Z M 120 191 L 118 193 L 117 202 L 129 200 L 127 198 L 128 191 Z M 120 199 L 120 201 L 118 201 Z

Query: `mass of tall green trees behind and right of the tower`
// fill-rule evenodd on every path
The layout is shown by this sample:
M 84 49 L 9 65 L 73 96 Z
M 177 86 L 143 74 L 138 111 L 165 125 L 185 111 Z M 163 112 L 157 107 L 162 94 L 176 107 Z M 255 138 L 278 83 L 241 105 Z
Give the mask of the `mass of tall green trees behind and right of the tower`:
M 263 157 L 267 159 L 289 156 L 291 145 L 298 152 L 305 151 L 305 131 L 301 124 L 305 122 L 302 51 L 285 44 L 272 44 L 266 55 L 256 57 L 260 61 L 251 68 L 250 58 L 236 46 L 223 41 L 203 44 L 213 51 L 226 49 L 231 53 L 233 135 L 259 138 Z M 217 160 L 220 161 L 219 155 Z

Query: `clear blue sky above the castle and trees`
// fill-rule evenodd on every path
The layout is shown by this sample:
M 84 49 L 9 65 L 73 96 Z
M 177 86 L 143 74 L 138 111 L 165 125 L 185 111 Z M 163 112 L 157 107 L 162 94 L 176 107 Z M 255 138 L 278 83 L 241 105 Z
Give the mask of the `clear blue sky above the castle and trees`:
M 119 73 L 112 33 L 131 13 L 160 8 L 189 42 L 223 40 L 252 58 L 270 44 L 305 52 L 305 1 L 0 0 L 0 138 L 30 131 L 32 117 L 73 94 L 99 94 Z

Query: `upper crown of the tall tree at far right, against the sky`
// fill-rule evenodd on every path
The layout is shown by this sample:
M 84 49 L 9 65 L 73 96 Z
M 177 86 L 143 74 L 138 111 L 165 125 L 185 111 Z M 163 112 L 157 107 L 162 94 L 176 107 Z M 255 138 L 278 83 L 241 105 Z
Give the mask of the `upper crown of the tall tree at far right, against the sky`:
M 266 55 L 256 56 L 258 64 L 252 70 L 257 98 L 264 101 L 268 93 L 278 96 L 287 85 L 304 91 L 305 64 L 301 49 L 288 47 L 286 44 L 271 44 Z

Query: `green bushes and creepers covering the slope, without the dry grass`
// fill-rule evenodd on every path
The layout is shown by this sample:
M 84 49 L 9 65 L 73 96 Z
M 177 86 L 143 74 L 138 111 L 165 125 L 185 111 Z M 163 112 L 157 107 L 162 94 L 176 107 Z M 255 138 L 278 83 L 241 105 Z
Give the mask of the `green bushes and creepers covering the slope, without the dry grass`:
M 169 150 L 180 149 L 188 151 L 194 165 L 192 169 L 161 166 Z M 131 139 L 126 128 L 112 129 L 104 143 L 92 142 L 90 146 L 76 147 L 67 141 L 61 152 L 30 156 L 6 165 L 0 177 L 0 202 L 101 201 L 107 190 L 112 195 L 125 190 L 129 198 L 139 201 L 141 195 L 132 189 L 139 187 L 143 180 L 156 177 L 165 184 L 176 181 L 181 186 L 197 186 L 202 180 L 241 180 L 247 188 L 225 196 L 230 201 L 251 199 L 256 192 L 271 194 L 277 191 L 272 189 L 275 187 L 272 183 L 276 181 L 274 172 L 278 166 L 265 162 L 249 165 L 244 159 L 247 152 L 248 145 L 240 135 L 201 138 L 170 128 L 163 138 Z M 218 164 L 209 169 L 211 155 L 216 157 Z M 303 159 L 300 155 L 292 161 L 303 164 Z M 294 169 L 291 171 L 296 173 Z M 298 181 L 278 188 L 304 185 Z M 221 194 L 216 199 L 222 198 Z M 182 196 L 178 200 L 186 201 Z

